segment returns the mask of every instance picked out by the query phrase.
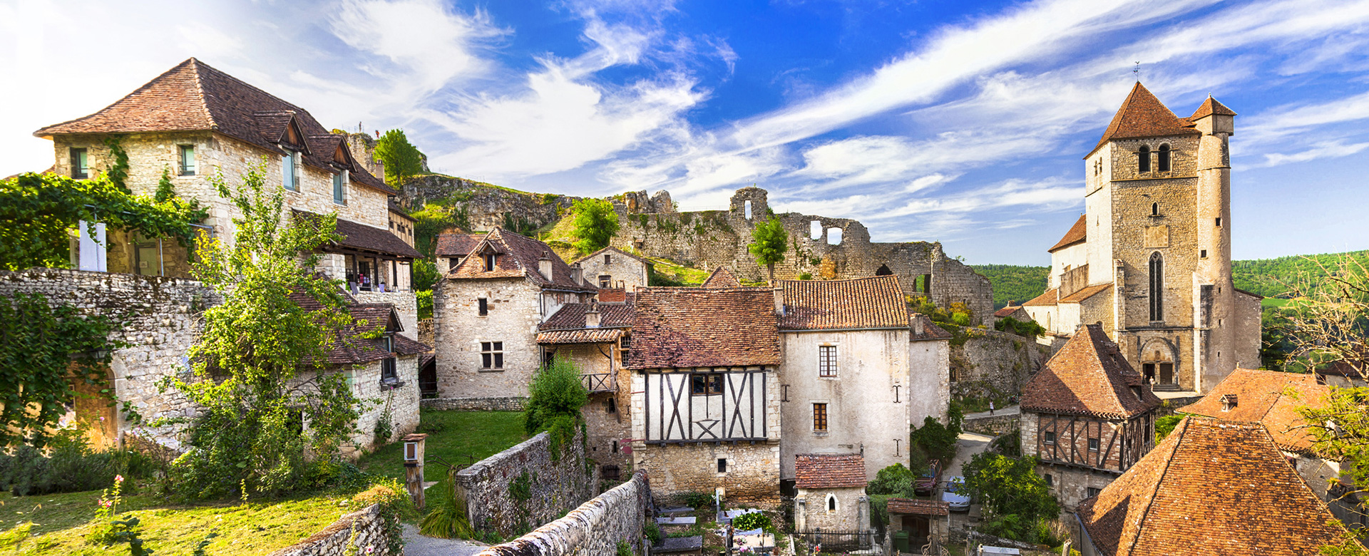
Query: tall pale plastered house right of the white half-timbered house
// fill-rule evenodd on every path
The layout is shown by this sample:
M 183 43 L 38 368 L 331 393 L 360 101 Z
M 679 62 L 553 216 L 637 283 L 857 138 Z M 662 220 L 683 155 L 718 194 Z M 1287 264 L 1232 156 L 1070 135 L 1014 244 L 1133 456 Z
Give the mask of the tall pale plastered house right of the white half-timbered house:
M 949 334 L 913 334 L 898 278 L 778 281 L 780 479 L 801 455 L 860 453 L 867 481 L 908 462 L 908 430 L 949 404 Z

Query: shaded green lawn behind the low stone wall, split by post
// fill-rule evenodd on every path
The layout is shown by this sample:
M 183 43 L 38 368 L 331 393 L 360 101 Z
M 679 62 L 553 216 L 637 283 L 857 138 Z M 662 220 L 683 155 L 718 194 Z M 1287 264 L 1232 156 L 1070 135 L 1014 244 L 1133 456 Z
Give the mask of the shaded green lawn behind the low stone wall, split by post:
M 464 466 L 479 462 L 527 437 L 523 434 L 523 414 L 516 411 L 423 411 L 419 414 L 423 430 L 428 433 L 423 445 L 427 455 L 424 478 L 437 481 L 442 464 Z M 357 466 L 376 475 L 404 479 L 404 442 L 381 446 L 357 462 Z M 474 457 L 474 460 L 472 460 Z

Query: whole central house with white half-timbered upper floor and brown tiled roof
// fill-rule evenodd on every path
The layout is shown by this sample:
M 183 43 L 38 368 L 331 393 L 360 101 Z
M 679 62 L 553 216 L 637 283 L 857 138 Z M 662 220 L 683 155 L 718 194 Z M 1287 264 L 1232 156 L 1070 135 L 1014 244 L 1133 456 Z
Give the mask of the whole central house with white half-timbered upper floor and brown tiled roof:
M 767 288 L 637 292 L 632 467 L 663 494 L 779 505 L 780 341 Z

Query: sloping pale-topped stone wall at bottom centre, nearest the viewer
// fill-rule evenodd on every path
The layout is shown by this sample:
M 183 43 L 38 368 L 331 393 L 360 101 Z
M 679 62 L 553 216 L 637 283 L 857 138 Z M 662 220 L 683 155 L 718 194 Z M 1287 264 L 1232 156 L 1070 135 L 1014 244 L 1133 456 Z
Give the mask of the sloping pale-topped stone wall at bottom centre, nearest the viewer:
M 494 545 L 479 556 L 600 556 L 617 552 L 627 542 L 634 555 L 646 553 L 642 535 L 653 514 L 652 486 L 646 472 L 575 508 L 564 518 L 543 525 L 509 542 Z

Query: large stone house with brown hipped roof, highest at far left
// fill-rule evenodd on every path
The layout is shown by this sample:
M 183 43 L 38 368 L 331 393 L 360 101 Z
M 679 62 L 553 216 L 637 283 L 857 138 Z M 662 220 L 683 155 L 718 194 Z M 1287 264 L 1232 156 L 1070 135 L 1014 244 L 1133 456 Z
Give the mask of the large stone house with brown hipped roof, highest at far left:
M 296 215 L 335 212 L 341 241 L 326 245 L 320 270 L 353 290 L 409 290 L 419 256 L 390 233 L 389 199 L 397 192 L 353 157 L 342 136 L 331 134 L 304 108 L 286 103 L 208 64 L 188 59 L 129 96 L 92 115 L 34 131 L 52 141 L 52 171 L 89 178 L 114 166 L 105 140 L 129 156 L 126 185 L 153 194 L 166 175 L 182 199 L 200 201 L 209 216 L 204 234 L 233 242 L 237 207 L 220 197 L 211 178 L 238 184 L 264 164 L 266 184 L 279 186 Z M 286 218 L 286 215 L 282 215 Z M 189 251 L 166 238 L 110 230 L 73 240 L 81 270 L 189 277 Z M 402 304 L 402 303 L 401 303 Z

